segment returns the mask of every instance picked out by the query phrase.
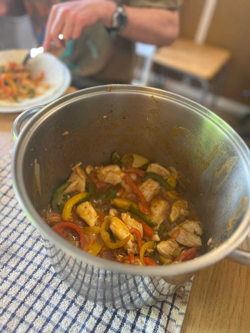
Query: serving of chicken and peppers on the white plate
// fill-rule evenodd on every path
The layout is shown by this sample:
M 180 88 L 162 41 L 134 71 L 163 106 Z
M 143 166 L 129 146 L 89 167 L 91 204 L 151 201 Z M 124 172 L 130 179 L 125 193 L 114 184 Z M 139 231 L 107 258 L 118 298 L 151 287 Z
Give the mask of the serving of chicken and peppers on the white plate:
M 40 96 L 50 88 L 43 79 L 44 72 L 33 77 L 27 67 L 9 61 L 0 66 L 0 100 L 18 103 Z

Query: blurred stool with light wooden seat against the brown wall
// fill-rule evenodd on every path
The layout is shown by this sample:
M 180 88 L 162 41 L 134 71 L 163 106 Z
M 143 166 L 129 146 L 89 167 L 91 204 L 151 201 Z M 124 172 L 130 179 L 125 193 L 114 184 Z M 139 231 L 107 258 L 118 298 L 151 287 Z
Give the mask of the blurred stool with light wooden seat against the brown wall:
M 160 47 L 152 57 L 156 63 L 183 74 L 188 80 L 198 81 L 202 87 L 200 103 L 203 104 L 212 80 L 215 91 L 212 105 L 216 103 L 225 78 L 231 52 L 208 44 L 196 44 L 191 39 L 178 38 L 169 47 Z

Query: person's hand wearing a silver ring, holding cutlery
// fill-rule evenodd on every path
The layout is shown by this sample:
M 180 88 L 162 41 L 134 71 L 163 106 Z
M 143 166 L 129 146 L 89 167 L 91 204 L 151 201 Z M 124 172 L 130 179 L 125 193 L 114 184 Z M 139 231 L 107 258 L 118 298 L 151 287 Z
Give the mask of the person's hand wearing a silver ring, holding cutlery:
M 64 46 L 59 39 L 60 34 L 67 41 L 80 37 L 85 28 L 98 22 L 106 25 L 110 22 L 111 25 L 115 8 L 116 4 L 107 0 L 78 0 L 52 6 L 43 42 L 44 51 L 49 50 L 52 41 L 58 47 Z

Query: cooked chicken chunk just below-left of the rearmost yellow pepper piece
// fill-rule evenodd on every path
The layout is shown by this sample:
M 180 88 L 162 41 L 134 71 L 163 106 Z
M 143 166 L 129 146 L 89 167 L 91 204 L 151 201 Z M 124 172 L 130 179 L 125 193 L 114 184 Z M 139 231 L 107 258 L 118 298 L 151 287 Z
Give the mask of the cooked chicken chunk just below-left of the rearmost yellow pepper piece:
M 125 173 L 117 165 L 96 167 L 96 172 L 99 180 L 106 181 L 112 185 L 119 184 L 125 176 Z

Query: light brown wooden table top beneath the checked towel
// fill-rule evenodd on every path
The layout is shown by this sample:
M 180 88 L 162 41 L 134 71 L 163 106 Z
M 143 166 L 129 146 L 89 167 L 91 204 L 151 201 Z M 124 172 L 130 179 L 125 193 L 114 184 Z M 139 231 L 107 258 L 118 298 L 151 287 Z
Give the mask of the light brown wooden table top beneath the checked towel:
M 0 158 L 14 145 L 10 130 L 17 115 L 0 114 Z M 250 332 L 249 300 L 250 267 L 224 259 L 202 269 L 195 274 L 181 332 Z

